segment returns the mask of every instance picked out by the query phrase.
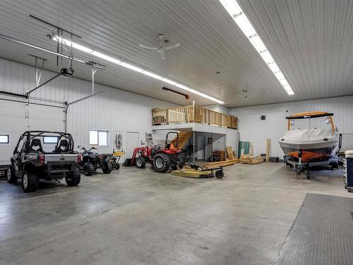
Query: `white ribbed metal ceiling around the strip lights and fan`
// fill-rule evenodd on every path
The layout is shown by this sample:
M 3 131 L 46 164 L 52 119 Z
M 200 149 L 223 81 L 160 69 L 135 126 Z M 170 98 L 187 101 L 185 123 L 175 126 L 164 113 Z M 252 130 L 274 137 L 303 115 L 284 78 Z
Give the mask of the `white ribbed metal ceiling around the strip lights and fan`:
M 285 74 L 294 96 L 285 93 L 217 0 L 0 1 L 0 33 L 56 49 L 55 42 L 46 37 L 54 28 L 30 18 L 32 14 L 82 36 L 76 39 L 80 44 L 164 74 L 232 107 L 353 93 L 352 1 L 239 0 L 239 4 Z M 158 45 L 159 33 L 170 45 L 181 43 L 178 49 L 166 52 L 164 61 L 156 52 L 138 47 L 139 43 Z M 4 40 L 0 45 L 0 57 L 33 65 L 28 53 L 37 54 L 49 59 L 47 69 L 58 70 L 51 55 Z M 97 71 L 98 83 L 185 103 L 162 91 L 163 84 L 153 78 L 83 52 L 74 55 L 107 65 L 106 70 Z M 75 76 L 90 80 L 90 68 L 74 66 Z M 242 92 L 246 88 L 249 100 Z M 213 104 L 192 94 L 191 100 Z

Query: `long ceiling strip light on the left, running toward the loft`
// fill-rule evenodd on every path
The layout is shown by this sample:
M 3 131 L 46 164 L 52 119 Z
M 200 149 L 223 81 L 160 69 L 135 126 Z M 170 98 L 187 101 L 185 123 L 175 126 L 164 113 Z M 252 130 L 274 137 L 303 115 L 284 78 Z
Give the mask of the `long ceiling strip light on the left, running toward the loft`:
M 159 75 L 157 75 L 156 73 L 151 73 L 150 71 L 146 71 L 146 70 L 144 70 L 144 69 L 141 69 L 141 68 L 138 67 L 138 66 L 134 66 L 134 65 L 132 65 L 132 64 L 128 64 L 128 63 L 126 63 L 125 61 L 121 61 L 121 60 L 116 59 L 116 58 L 114 58 L 114 57 L 109 57 L 109 56 L 106 55 L 106 54 L 102 54 L 101 52 L 97 52 L 97 51 L 95 51 L 95 50 L 93 50 L 93 49 L 90 49 L 89 47 L 85 47 L 85 46 L 80 45 L 80 44 L 78 44 L 78 43 L 76 43 L 76 42 L 72 42 L 72 43 L 71 43 L 71 40 L 66 40 L 66 39 L 61 38 L 61 37 L 58 37 L 58 36 L 56 36 L 56 35 L 54 35 L 54 37 L 52 38 L 52 40 L 54 40 L 54 41 L 56 41 L 56 42 L 59 40 L 59 42 L 63 42 L 63 43 L 64 43 L 66 46 L 68 46 L 68 47 L 71 47 L 71 45 L 72 45 L 73 48 L 79 49 L 79 50 L 82 51 L 82 52 L 87 52 L 87 53 L 89 53 L 89 54 L 92 54 L 92 55 L 95 56 L 95 57 L 99 57 L 99 58 L 101 58 L 101 59 L 110 61 L 110 62 L 112 62 L 112 63 L 114 63 L 114 64 L 118 64 L 119 66 L 123 66 L 123 67 L 125 67 L 125 68 L 127 68 L 127 69 L 130 69 L 130 70 L 132 70 L 132 71 L 136 71 L 136 72 L 138 72 L 138 73 L 143 73 L 145 76 L 150 76 L 150 77 L 155 78 L 155 79 L 158 79 L 158 80 L 160 80 L 160 81 L 162 81 L 162 82 L 164 82 L 164 83 L 169 83 L 169 84 L 171 84 L 171 85 L 173 85 L 173 86 L 177 86 L 178 88 L 187 90 L 187 91 L 189 91 L 190 93 L 193 93 L 193 94 L 196 94 L 196 95 L 200 95 L 201 97 L 207 98 L 208 100 L 212 100 L 212 101 L 217 102 L 217 103 L 219 103 L 219 104 L 225 104 L 225 102 L 223 102 L 223 101 L 221 101 L 221 100 L 217 100 L 217 98 L 213 98 L 213 97 L 211 97 L 211 96 L 209 96 L 209 95 L 206 95 L 206 94 L 204 94 L 204 93 L 201 93 L 201 92 L 199 92 L 199 91 L 197 91 L 197 90 L 193 90 L 192 88 L 189 88 L 189 87 L 187 87 L 187 86 L 184 86 L 184 85 L 182 85 L 181 83 L 177 83 L 177 82 L 172 81 L 172 80 L 170 80 L 170 79 L 168 79 L 168 78 L 164 78 L 163 76 L 159 76 Z

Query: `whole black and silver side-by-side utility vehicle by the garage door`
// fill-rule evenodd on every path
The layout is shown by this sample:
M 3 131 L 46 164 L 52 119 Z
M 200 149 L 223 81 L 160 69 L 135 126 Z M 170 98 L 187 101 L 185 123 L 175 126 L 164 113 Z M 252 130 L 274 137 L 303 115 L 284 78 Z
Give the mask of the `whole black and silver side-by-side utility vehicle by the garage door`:
M 23 192 L 35 192 L 39 179 L 66 179 L 68 186 L 80 183 L 77 163 L 80 155 L 73 151 L 71 134 L 59 131 L 25 131 L 11 158 L 9 183 L 22 179 Z

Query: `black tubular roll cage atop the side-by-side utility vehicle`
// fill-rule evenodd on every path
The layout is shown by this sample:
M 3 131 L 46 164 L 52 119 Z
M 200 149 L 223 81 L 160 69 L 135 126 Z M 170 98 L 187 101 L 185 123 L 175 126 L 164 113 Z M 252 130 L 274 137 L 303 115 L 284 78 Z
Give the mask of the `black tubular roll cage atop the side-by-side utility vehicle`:
M 56 135 L 53 135 L 56 134 Z M 36 140 L 37 137 L 42 136 L 44 139 L 44 136 L 52 136 L 52 137 L 57 137 L 56 141 L 56 146 L 54 148 L 53 152 L 49 153 L 63 153 L 62 151 L 59 150 L 59 148 L 62 145 L 65 145 L 66 151 L 65 153 L 73 153 L 73 138 L 71 134 L 67 134 L 61 131 L 25 131 L 21 136 L 20 139 L 18 139 L 18 143 L 16 145 L 15 151 L 13 151 L 13 155 L 16 153 L 21 153 L 21 152 L 30 152 L 33 144 L 40 146 L 40 151 L 42 153 L 45 153 L 42 151 L 42 144 L 40 142 L 40 139 L 37 139 L 38 141 L 35 141 L 33 143 L 33 140 Z M 23 146 L 20 151 L 18 151 L 18 146 L 20 145 L 20 142 L 23 140 Z

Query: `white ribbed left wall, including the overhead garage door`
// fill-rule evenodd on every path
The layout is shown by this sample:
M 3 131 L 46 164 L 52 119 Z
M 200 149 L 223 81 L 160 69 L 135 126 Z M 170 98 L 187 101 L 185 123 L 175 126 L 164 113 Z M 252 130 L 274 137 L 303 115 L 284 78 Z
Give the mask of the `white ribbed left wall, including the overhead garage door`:
M 87 69 L 90 71 L 90 69 Z M 55 73 L 44 71 L 42 82 Z M 58 77 L 31 95 L 36 98 L 72 102 L 92 91 L 92 83 L 78 78 Z M 117 84 L 117 86 L 119 86 Z M 0 90 L 13 93 L 25 93 L 35 87 L 35 67 L 0 58 Z M 126 148 L 126 131 L 138 131 L 140 141 L 145 142 L 145 132 L 151 131 L 151 109 L 155 107 L 174 107 L 172 103 L 148 98 L 143 95 L 95 84 L 95 92 L 106 92 L 88 100 L 71 105 L 68 109 L 68 132 L 73 134 L 75 148 L 89 146 L 89 131 L 109 131 L 107 147 L 100 147 L 100 152 L 112 152 L 114 147 L 113 132 L 123 131 L 123 144 Z M 2 99 L 21 100 L 1 95 Z M 46 103 L 63 107 L 59 102 Z M 29 119 L 25 118 L 26 107 L 23 102 L 0 100 L 0 134 L 9 134 L 10 143 L 0 145 L 0 160 L 10 158 L 18 141 L 18 136 L 27 130 L 64 131 L 64 112 L 61 108 L 30 105 Z M 153 137 L 155 142 L 164 140 L 165 132 L 157 131 Z

